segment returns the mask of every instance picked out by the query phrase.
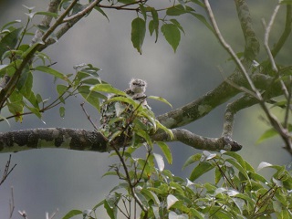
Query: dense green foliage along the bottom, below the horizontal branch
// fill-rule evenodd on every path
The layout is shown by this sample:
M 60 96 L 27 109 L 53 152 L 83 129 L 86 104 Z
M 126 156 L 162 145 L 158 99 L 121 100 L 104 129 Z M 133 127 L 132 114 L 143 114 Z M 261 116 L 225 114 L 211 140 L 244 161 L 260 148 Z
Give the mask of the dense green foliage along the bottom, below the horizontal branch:
M 133 151 L 140 147 L 111 154 L 119 156 L 121 162 L 113 164 L 105 176 L 119 177 L 121 183 L 87 211 L 89 214 L 81 211 L 79 214 L 85 218 L 98 218 L 94 213 L 103 206 L 110 218 L 119 218 L 121 214 L 126 218 L 137 218 L 137 205 L 141 203 L 146 210 L 141 211 L 140 218 L 292 216 L 292 176 L 285 166 L 261 162 L 255 171 L 235 152 L 215 154 L 203 151 L 203 154 L 194 154 L 185 162 L 184 167 L 194 162 L 198 164 L 190 178 L 184 180 L 165 170 L 162 156 L 153 153 L 149 146 L 145 146 L 146 158 L 134 157 Z M 269 179 L 259 173 L 263 169 L 272 170 Z M 211 170 L 214 170 L 214 183 L 193 183 Z

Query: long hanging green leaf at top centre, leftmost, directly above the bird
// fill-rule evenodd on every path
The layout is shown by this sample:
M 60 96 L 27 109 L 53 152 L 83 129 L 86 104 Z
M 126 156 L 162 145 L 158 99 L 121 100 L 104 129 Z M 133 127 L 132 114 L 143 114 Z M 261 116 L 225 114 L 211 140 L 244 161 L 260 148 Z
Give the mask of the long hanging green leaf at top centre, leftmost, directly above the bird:
M 137 17 L 131 22 L 131 42 L 133 47 L 135 47 L 141 54 L 141 47 L 143 45 L 144 37 L 146 32 L 145 21 Z

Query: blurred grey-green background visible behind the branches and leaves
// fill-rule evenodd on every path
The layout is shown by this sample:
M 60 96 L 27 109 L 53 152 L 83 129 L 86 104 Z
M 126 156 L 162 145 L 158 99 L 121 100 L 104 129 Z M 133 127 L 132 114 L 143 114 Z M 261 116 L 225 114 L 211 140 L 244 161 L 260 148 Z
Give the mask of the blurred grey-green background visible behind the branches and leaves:
M 0 25 L 21 19 L 26 22 L 26 6 L 36 6 L 35 10 L 44 11 L 49 1 L 0 1 Z M 160 5 L 163 1 L 155 4 Z M 255 31 L 263 42 L 264 28 L 261 19 L 268 20 L 275 1 L 247 1 L 255 24 Z M 212 1 L 214 14 L 217 18 L 225 39 L 240 52 L 244 47 L 244 38 L 235 13 L 233 2 L 224 0 Z M 148 95 L 161 96 L 168 99 L 173 108 L 181 107 L 193 99 L 201 97 L 207 91 L 214 89 L 224 80 L 218 66 L 224 69 L 228 76 L 234 69 L 234 64 L 227 61 L 228 55 L 212 36 L 211 32 L 192 16 L 179 18 L 185 35 L 174 54 L 163 36 L 154 43 L 154 37 L 145 37 L 140 55 L 130 42 L 130 22 L 136 16 L 133 12 L 115 10 L 105 11 L 110 22 L 97 12 L 82 19 L 63 36 L 57 44 L 48 47 L 45 52 L 57 61 L 54 66 L 65 73 L 74 73 L 73 66 L 80 63 L 91 63 L 102 68 L 100 78 L 108 81 L 119 89 L 126 89 L 130 78 L 147 80 Z M 199 13 L 203 13 L 198 8 Z M 285 10 L 282 8 L 276 17 L 276 23 L 270 36 L 271 45 L 275 43 L 284 25 Z M 41 18 L 41 17 L 39 17 Z M 36 19 L 37 21 L 37 19 Z M 285 49 L 277 57 L 282 63 L 291 63 L 291 36 Z M 266 58 L 261 47 L 260 58 Z M 57 97 L 53 85 L 54 78 L 41 72 L 35 72 L 34 87 L 43 98 Z M 26 116 L 23 123 L 9 120 L 11 126 L 1 123 L 0 131 L 21 130 L 29 128 L 68 127 L 91 130 L 92 127 L 80 108 L 82 99 L 71 98 L 66 104 L 66 116 L 59 117 L 58 109 L 49 110 L 44 114 L 43 121 L 35 116 Z M 171 110 L 168 106 L 155 101 L 149 101 L 156 115 Z M 184 127 L 194 133 L 219 137 L 223 127 L 224 106 L 212 111 L 201 120 Z M 93 120 L 99 120 L 99 113 L 89 105 L 86 107 Z M 5 111 L 2 112 L 5 115 Z M 283 142 L 279 139 L 265 141 L 255 145 L 257 138 L 266 129 L 266 123 L 259 118 L 263 116 L 259 107 L 252 107 L 238 113 L 235 120 L 234 140 L 244 145 L 239 153 L 251 162 L 254 167 L 259 162 L 287 164 L 291 156 L 282 149 Z M 192 168 L 182 171 L 183 162 L 194 150 L 179 142 L 171 143 L 173 164 L 167 166 L 174 174 L 188 177 Z M 3 172 L 9 154 L 0 154 L 0 170 Z M 109 165 L 116 162 L 109 158 L 108 153 L 89 151 L 67 151 L 44 149 L 21 151 L 13 154 L 12 162 L 17 163 L 16 169 L 0 186 L 0 218 L 8 218 L 10 187 L 14 187 L 16 210 L 13 218 L 20 218 L 18 210 L 26 210 L 28 218 L 45 218 L 45 213 L 52 213 L 57 208 L 56 218 L 62 217 L 71 209 L 90 209 L 102 200 L 110 189 L 119 183 L 115 177 L 104 177 Z M 2 173 L 0 172 L 0 173 Z M 213 180 L 212 176 L 200 178 L 198 182 Z M 103 210 L 100 218 L 104 218 Z

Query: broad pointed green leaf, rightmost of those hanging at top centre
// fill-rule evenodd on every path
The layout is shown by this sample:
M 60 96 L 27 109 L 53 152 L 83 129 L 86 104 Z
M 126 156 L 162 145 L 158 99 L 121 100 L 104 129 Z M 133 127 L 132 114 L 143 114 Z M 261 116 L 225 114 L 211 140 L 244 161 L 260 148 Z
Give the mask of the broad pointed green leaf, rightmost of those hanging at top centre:
M 181 41 L 181 32 L 179 28 L 173 24 L 164 24 L 162 25 L 162 34 L 175 52 Z

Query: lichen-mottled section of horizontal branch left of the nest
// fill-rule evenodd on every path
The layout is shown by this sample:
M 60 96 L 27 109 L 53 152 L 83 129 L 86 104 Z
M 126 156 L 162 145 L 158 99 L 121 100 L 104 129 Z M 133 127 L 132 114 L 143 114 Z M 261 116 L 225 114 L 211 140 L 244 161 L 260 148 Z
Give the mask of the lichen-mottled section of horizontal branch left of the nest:
M 107 141 L 102 134 L 94 130 L 49 128 L 0 133 L 0 152 L 40 148 L 105 152 Z

